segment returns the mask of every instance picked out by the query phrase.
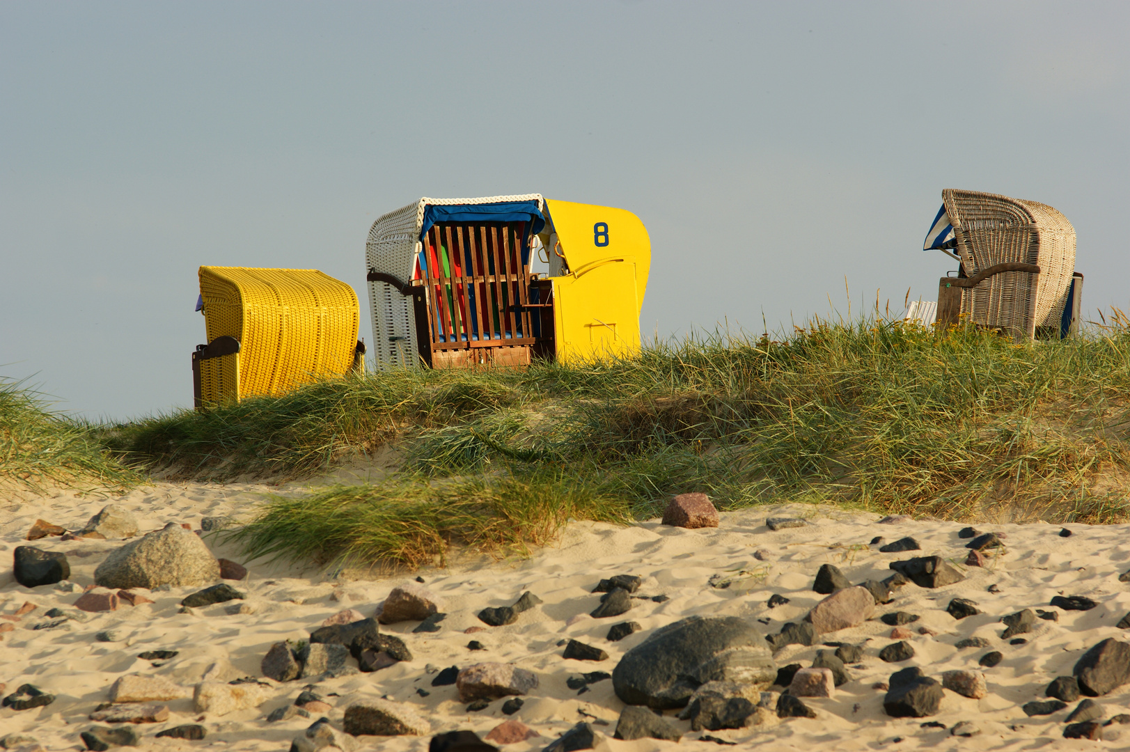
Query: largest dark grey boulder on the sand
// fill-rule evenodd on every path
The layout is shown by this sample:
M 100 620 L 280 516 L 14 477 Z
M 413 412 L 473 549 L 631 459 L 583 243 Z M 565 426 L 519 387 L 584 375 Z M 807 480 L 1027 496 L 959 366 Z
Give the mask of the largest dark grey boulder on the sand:
M 690 616 L 652 632 L 612 671 L 616 695 L 628 705 L 683 707 L 711 681 L 768 686 L 776 664 L 764 638 L 737 616 Z

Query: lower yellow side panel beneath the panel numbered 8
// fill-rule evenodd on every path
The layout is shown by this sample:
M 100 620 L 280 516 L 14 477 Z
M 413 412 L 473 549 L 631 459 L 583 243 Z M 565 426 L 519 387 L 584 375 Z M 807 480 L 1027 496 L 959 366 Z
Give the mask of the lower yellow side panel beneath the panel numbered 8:
M 557 360 L 563 363 L 640 351 L 638 278 L 632 260 L 597 260 L 554 282 Z

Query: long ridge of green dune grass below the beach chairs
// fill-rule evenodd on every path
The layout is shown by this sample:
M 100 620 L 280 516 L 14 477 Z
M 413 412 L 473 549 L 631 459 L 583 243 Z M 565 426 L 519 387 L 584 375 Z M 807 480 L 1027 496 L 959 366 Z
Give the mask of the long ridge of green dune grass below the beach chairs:
M 123 426 L 115 448 L 189 475 L 301 477 L 393 442 L 408 456 L 394 483 L 276 500 L 241 535 L 258 553 L 416 564 L 454 541 L 545 539 L 559 522 L 538 527 L 541 517 L 654 516 L 687 491 L 722 509 L 820 500 L 966 520 L 1121 520 L 1128 388 L 1124 327 L 1014 343 L 817 320 L 780 342 L 715 334 L 619 361 L 323 382 Z M 507 516 L 519 487 L 538 501 Z M 572 511 L 551 511 L 556 496 Z M 514 537 L 498 533 L 506 526 Z

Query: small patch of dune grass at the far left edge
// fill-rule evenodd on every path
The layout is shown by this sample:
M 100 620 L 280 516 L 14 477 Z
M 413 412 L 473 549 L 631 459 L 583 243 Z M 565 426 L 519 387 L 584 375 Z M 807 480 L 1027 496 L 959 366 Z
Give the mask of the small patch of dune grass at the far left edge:
M 63 486 L 124 489 L 140 476 L 107 451 L 99 429 L 50 408 L 23 381 L 0 377 L 0 482 L 41 490 Z

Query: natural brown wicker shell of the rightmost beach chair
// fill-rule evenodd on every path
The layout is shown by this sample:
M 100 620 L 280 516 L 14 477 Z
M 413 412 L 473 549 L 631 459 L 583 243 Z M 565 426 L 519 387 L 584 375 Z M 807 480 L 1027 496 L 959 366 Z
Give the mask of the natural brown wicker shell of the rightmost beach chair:
M 1042 327 L 1058 328 L 1075 270 L 1071 223 L 1037 201 L 955 189 L 941 196 L 970 276 L 1010 261 L 1040 266 L 1038 277 L 1006 271 L 964 291 L 962 313 L 1015 337 Z

